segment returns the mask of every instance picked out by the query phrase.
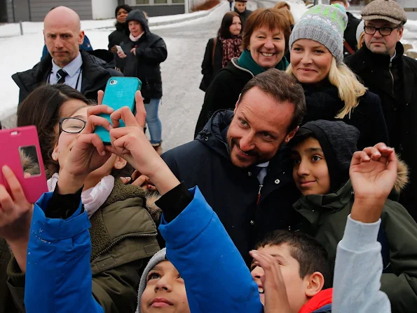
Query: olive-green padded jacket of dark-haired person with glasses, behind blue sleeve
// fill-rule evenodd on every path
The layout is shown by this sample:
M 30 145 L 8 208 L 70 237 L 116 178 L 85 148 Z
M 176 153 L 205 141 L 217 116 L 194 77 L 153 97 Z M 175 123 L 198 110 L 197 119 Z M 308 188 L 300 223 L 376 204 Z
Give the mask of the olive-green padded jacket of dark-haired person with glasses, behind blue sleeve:
M 159 251 L 156 224 L 144 208 L 144 195 L 139 187 L 116 179 L 109 198 L 90 218 L 93 296 L 106 313 L 135 312 L 140 277 L 149 258 Z M 13 298 L 23 309 L 25 275 L 14 258 L 7 276 Z

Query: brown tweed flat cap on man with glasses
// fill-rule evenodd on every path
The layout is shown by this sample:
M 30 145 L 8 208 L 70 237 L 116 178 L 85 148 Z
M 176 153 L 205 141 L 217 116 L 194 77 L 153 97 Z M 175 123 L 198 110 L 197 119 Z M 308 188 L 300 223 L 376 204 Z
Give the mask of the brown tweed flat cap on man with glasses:
M 361 12 L 363 20 L 388 20 L 394 24 L 405 24 L 407 15 L 404 8 L 393 0 L 374 0 Z

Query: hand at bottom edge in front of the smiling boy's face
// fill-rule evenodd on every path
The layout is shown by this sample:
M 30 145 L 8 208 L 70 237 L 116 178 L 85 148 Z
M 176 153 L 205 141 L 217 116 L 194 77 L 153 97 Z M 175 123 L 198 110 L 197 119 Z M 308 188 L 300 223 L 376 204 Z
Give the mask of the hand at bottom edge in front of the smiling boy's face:
M 265 293 L 264 313 L 292 312 L 278 260 L 261 251 L 252 250 L 249 254 L 264 269 L 265 274 L 261 277 Z

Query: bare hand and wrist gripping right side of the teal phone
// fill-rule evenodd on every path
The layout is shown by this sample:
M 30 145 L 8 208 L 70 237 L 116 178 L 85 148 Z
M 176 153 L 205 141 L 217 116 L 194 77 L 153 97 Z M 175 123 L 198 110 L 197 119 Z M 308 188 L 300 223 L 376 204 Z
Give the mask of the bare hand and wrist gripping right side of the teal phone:
M 179 185 L 179 180 L 153 149 L 144 134 L 146 111 L 140 91 L 135 94 L 136 116 L 128 107 L 122 107 L 111 114 L 113 128 L 110 131 L 111 146 L 107 151 L 128 161 L 137 171 L 149 177 L 160 194 L 165 194 Z M 125 127 L 119 128 L 122 120 Z

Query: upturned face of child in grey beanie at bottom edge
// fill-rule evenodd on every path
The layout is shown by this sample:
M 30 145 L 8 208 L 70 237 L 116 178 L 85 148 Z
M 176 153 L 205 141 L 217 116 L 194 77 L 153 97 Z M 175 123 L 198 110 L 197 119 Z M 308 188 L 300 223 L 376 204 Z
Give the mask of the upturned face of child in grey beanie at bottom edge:
M 146 277 L 142 313 L 190 313 L 184 279 L 170 261 L 159 262 Z

